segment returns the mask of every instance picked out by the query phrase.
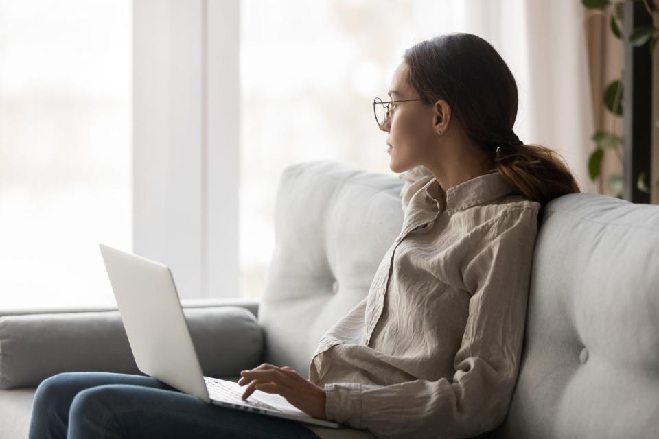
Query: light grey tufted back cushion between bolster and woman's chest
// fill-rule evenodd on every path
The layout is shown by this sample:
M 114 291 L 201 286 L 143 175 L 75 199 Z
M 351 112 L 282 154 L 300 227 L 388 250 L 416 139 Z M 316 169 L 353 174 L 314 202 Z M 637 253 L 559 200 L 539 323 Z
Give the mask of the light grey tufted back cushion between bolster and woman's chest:
M 321 336 L 367 295 L 400 233 L 401 187 L 395 176 L 329 161 L 284 171 L 259 306 L 267 361 L 308 375 Z

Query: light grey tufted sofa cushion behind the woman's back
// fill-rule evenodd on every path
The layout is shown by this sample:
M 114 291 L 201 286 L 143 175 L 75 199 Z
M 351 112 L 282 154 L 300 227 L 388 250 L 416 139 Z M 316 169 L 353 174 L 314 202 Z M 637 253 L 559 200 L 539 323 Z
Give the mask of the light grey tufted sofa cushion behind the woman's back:
M 659 206 L 544 206 L 502 438 L 659 438 Z

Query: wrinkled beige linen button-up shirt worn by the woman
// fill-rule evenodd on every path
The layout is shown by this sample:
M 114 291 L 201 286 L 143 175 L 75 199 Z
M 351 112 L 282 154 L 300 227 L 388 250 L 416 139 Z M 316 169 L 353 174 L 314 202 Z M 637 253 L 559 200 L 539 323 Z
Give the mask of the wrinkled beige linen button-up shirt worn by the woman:
M 498 171 L 446 193 L 425 167 L 400 178 L 402 231 L 310 365 L 327 418 L 361 430 L 321 438 L 468 438 L 508 412 L 540 203 Z

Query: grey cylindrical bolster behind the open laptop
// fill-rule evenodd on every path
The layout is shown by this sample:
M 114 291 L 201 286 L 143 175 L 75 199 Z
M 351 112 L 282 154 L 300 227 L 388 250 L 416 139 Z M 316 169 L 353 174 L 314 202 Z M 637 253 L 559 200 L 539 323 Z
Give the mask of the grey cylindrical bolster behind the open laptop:
M 183 313 L 204 375 L 238 375 L 262 361 L 262 329 L 248 309 L 185 307 Z M 0 317 L 0 388 L 34 386 L 76 371 L 143 375 L 119 311 Z

